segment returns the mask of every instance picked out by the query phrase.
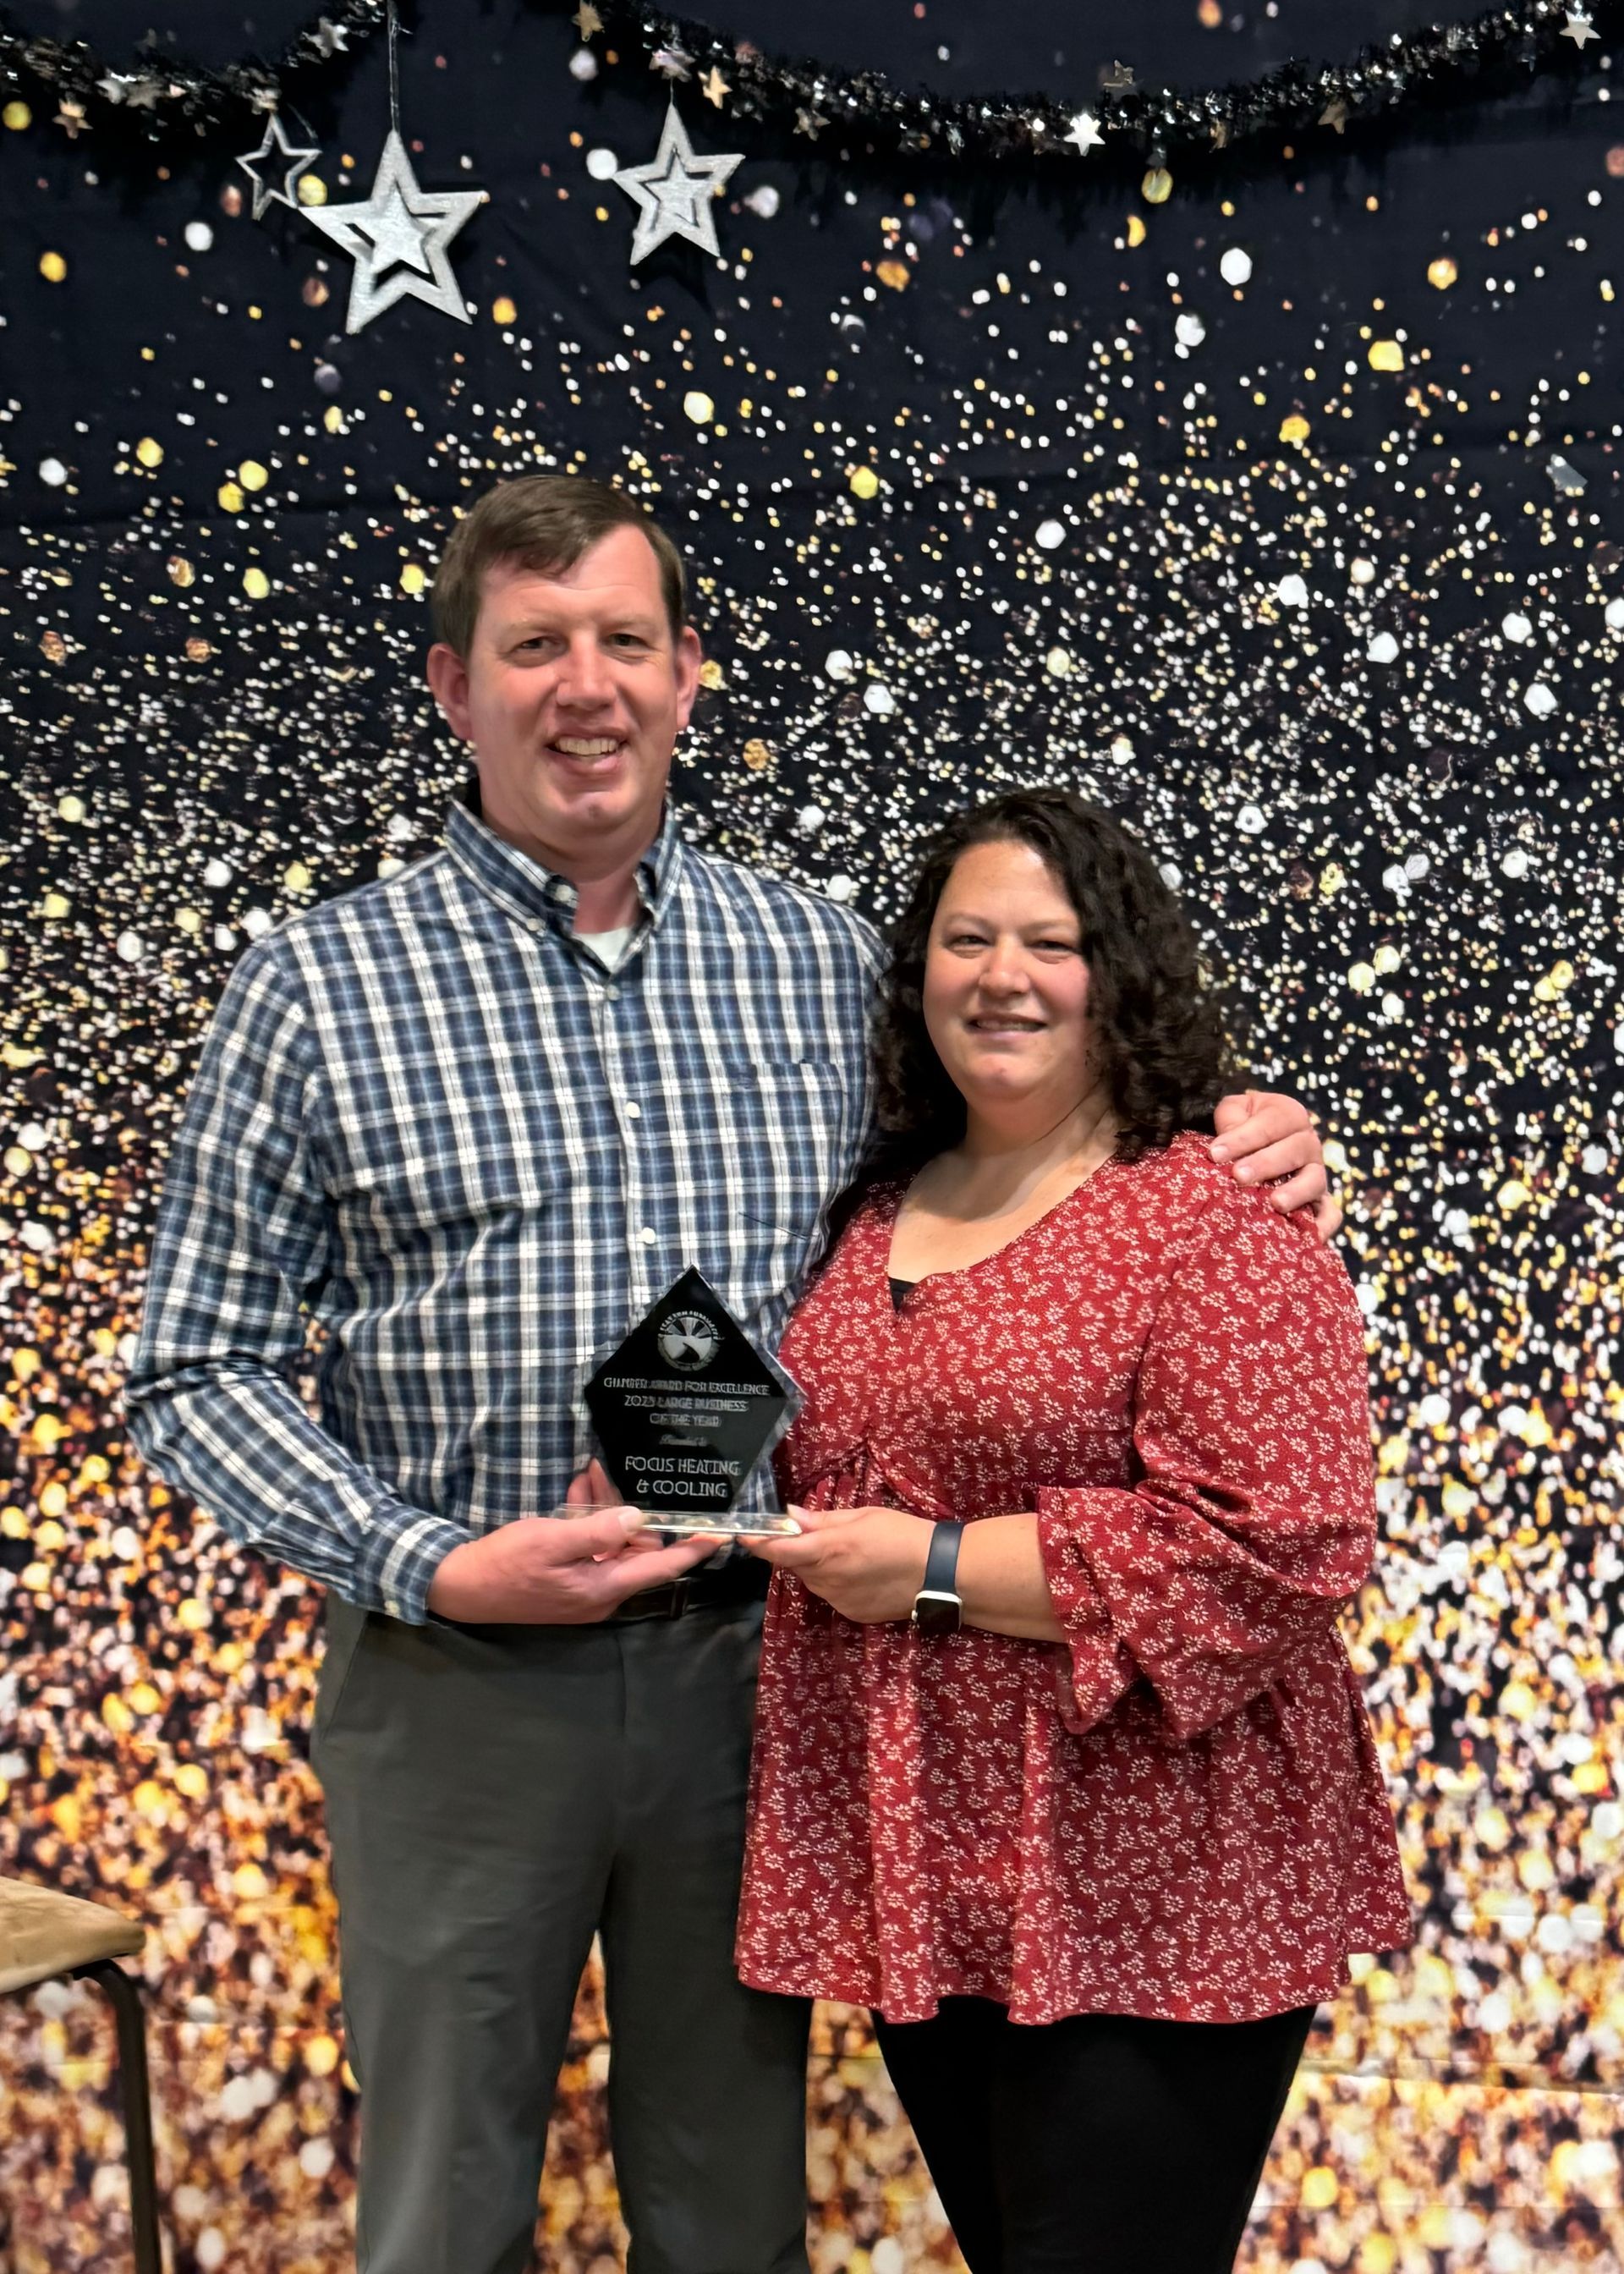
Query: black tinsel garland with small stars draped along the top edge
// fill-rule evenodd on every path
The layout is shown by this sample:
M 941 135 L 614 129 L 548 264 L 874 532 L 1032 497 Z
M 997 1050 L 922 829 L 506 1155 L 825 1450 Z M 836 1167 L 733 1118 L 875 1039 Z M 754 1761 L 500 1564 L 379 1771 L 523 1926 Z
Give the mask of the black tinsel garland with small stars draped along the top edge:
M 557 5 L 557 0 L 553 0 Z M 273 61 L 246 59 L 221 70 L 152 59 L 134 73 L 109 66 L 84 41 L 30 36 L 0 9 L 0 96 L 43 82 L 59 100 L 57 125 L 77 136 L 96 114 L 141 118 L 157 139 L 177 123 L 196 132 L 243 111 L 273 111 L 282 75 L 309 70 L 375 32 L 384 0 L 330 0 Z M 1424 25 L 1362 48 L 1349 64 L 1283 64 L 1237 86 L 1178 93 L 1135 86 L 1133 73 L 1108 77 L 1085 102 L 1053 96 L 987 93 L 948 100 L 928 89 L 901 89 L 878 70 L 842 73 L 817 61 L 762 55 L 682 16 L 639 0 L 582 0 L 573 11 L 582 39 L 614 39 L 669 84 L 694 82 L 723 116 L 780 125 L 789 136 L 862 134 L 869 148 L 935 159 L 1055 159 L 1085 164 L 1092 150 L 1130 155 L 1153 166 L 1178 155 L 1210 155 L 1262 134 L 1342 134 L 1360 121 L 1387 121 L 1401 109 L 1440 109 L 1503 93 L 1535 73 L 1583 70 L 1590 34 L 1624 27 L 1624 0 L 1519 0 L 1463 23 Z M 1583 43 L 1574 30 L 1583 25 Z M 1087 125 L 1083 125 L 1087 121 Z M 1099 164 L 1099 157 L 1094 159 Z

